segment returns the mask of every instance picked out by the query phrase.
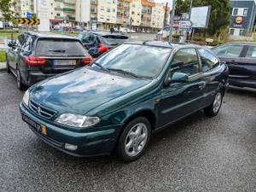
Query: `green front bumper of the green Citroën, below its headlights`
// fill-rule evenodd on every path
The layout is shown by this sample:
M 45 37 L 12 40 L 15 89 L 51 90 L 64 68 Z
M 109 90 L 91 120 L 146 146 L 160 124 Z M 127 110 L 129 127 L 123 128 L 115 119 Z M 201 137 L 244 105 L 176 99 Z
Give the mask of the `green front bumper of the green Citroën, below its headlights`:
M 47 120 L 39 119 L 22 103 L 20 103 L 20 112 L 39 125 L 45 125 L 47 127 L 47 135 L 45 136 L 42 131 L 38 131 L 32 125 L 29 125 L 31 130 L 41 140 L 50 146 L 73 156 L 90 157 L 111 154 L 122 127 L 122 125 L 113 125 L 101 127 L 101 129 L 99 129 L 101 131 L 70 131 L 51 125 Z M 76 145 L 78 148 L 76 150 L 68 150 L 65 148 L 65 143 Z

